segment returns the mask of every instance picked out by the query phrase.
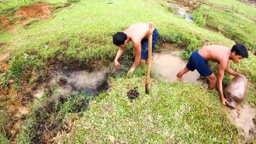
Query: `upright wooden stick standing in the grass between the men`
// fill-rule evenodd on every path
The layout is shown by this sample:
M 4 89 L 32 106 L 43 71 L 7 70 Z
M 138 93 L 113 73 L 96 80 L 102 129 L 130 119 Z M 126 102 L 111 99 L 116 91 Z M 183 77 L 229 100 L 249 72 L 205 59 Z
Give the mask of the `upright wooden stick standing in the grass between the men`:
M 149 30 L 148 30 L 148 69 L 147 69 L 146 85 L 145 85 L 146 94 L 149 94 L 148 84 L 149 84 L 150 67 L 151 67 L 153 29 L 154 29 L 153 23 L 149 23 Z

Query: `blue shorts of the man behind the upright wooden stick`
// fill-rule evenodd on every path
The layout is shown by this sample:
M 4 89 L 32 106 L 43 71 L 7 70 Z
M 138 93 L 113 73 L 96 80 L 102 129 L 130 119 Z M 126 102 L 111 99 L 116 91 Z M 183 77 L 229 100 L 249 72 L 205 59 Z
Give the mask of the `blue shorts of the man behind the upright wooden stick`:
M 154 48 L 154 45 L 156 44 L 158 39 L 158 31 L 155 28 L 153 31 L 153 36 L 152 36 L 152 49 Z M 142 60 L 147 60 L 148 59 L 148 38 L 143 38 L 140 42 L 141 44 L 141 57 L 140 59 Z

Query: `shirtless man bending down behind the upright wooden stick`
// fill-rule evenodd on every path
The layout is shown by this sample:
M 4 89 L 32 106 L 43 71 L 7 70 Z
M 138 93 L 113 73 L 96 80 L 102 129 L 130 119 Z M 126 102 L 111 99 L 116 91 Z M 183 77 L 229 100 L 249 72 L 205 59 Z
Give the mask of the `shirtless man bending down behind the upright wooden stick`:
M 133 73 L 139 63 L 141 63 L 142 66 L 145 65 L 145 60 L 148 59 L 148 30 L 149 23 L 138 22 L 134 23 L 123 32 L 118 32 L 114 35 L 113 43 L 119 47 L 114 61 L 116 67 L 121 66 L 118 59 L 123 54 L 126 44 L 130 41 L 132 41 L 132 45 L 135 50 L 135 60 L 128 73 Z M 157 39 L 158 31 L 154 28 L 152 47 L 156 44 Z

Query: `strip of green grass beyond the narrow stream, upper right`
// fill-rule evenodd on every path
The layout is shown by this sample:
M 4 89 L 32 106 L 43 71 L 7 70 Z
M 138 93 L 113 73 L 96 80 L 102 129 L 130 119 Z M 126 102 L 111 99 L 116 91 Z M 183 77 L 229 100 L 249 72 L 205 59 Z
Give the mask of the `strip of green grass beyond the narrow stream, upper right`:
M 214 10 L 209 6 L 201 6 L 197 9 L 193 16 L 202 15 L 202 17 L 194 17 L 196 20 L 205 19 L 206 25 L 217 28 L 230 39 L 235 42 L 243 43 L 253 52 L 256 51 L 256 28 L 255 22 L 246 21 L 234 13 Z

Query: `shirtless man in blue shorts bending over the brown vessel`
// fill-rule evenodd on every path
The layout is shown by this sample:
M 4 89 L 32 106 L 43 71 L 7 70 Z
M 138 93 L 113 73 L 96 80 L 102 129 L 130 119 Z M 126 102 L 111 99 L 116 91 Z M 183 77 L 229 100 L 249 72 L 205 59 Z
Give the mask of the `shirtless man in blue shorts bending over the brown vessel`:
M 189 70 L 194 71 L 196 69 L 201 76 L 209 79 L 210 84 L 208 89 L 214 89 L 217 81 L 221 102 L 223 105 L 226 105 L 228 101 L 223 97 L 222 92 L 224 71 L 233 76 L 242 76 L 229 67 L 229 60 L 233 60 L 234 63 L 237 63 L 243 58 L 248 58 L 248 52 L 246 47 L 242 44 L 235 44 L 231 50 L 229 47 L 221 45 L 205 46 L 201 50 L 193 52 L 189 58 L 187 66 L 177 74 L 177 77 L 180 78 L 184 74 L 188 73 Z M 207 65 L 207 60 L 219 63 L 218 78 L 215 77 L 212 70 Z

